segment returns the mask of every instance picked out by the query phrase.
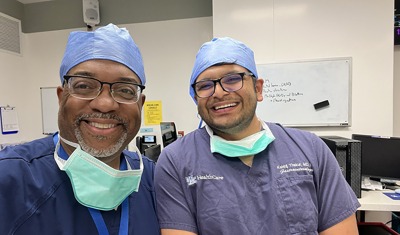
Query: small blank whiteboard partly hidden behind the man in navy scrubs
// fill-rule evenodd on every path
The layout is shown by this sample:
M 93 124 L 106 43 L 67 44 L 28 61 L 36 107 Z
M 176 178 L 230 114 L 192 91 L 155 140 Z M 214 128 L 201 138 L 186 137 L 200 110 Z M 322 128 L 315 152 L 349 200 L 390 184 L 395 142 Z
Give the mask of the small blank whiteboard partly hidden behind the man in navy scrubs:
M 58 131 L 58 97 L 57 87 L 40 87 L 42 96 L 43 134 Z

